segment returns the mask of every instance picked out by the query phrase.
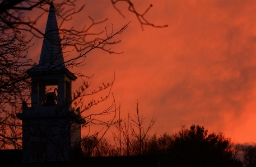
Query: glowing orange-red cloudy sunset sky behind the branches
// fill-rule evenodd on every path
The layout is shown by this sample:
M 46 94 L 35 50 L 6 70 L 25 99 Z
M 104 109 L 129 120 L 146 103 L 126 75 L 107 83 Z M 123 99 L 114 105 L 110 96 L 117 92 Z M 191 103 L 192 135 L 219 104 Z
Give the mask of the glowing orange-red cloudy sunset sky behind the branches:
M 69 25 L 79 27 L 89 22 L 87 16 L 108 17 L 98 27 L 111 30 L 113 23 L 118 30 L 131 21 L 117 37 L 122 43 L 111 48 L 123 54 L 92 51 L 86 65 L 70 69 L 94 74 L 92 88 L 111 82 L 115 72 L 113 93 L 122 103 L 123 117 L 136 111 L 138 99 L 146 119 L 157 118 L 152 132 L 173 133 L 181 125 L 196 124 L 209 132 L 224 132 L 235 142 L 256 142 L 256 1 L 134 1 L 141 10 L 152 3 L 148 20 L 169 25 L 144 26 L 144 31 L 122 3 L 118 6 L 125 19 L 110 1 L 85 3 Z M 44 29 L 45 24 L 46 16 L 38 26 Z M 34 43 L 28 55 L 38 63 L 42 41 Z M 77 79 L 73 90 L 81 84 Z

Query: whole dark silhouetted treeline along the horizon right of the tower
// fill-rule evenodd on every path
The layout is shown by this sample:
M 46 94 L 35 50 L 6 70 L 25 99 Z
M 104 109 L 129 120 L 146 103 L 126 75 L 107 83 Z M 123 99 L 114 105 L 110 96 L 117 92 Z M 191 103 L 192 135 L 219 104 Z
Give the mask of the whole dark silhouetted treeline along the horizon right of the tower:
M 125 134 L 121 133 L 122 136 L 125 137 Z M 105 138 L 99 140 L 97 136 L 83 137 L 82 155 L 150 155 L 157 156 L 161 166 L 256 166 L 256 146 L 235 145 L 223 133 L 208 135 L 203 126 L 183 126 L 173 135 L 147 135 L 141 141 L 139 138 L 126 138 L 126 142 L 123 139 L 113 145 Z

